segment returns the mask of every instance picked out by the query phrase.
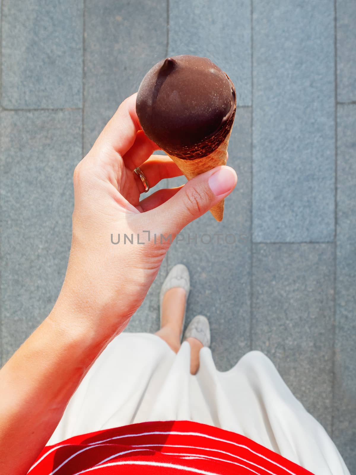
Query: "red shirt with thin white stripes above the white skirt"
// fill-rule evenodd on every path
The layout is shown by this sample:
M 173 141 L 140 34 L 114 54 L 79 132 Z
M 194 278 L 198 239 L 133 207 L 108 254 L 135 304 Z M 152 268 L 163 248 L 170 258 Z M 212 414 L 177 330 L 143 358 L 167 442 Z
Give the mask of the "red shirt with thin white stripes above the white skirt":
M 310 475 L 247 437 L 192 421 L 142 422 L 46 446 L 30 475 Z

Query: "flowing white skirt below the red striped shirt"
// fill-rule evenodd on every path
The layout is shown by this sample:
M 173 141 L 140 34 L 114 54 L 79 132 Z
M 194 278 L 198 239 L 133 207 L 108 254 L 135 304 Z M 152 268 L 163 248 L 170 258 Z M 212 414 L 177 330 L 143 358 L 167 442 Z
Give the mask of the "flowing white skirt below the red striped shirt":
M 178 353 L 157 335 L 121 333 L 69 400 L 47 445 L 144 421 L 193 420 L 242 434 L 315 475 L 349 475 L 325 429 L 293 396 L 272 361 L 246 353 L 217 371 L 209 348 L 190 374 L 190 346 Z

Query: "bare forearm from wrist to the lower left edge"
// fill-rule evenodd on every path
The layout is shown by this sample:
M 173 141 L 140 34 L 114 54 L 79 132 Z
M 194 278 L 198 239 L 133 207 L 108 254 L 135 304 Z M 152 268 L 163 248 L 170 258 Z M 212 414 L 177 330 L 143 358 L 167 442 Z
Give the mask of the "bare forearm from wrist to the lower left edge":
M 25 475 L 113 338 L 56 304 L 0 370 L 0 473 Z

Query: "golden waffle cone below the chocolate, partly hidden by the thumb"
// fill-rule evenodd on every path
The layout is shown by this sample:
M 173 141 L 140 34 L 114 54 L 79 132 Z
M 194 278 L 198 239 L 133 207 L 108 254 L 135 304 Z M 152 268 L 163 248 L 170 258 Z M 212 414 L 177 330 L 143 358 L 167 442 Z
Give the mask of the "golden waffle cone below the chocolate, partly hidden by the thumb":
M 187 180 L 211 170 L 219 165 L 226 165 L 226 152 L 229 144 L 232 127 L 226 136 L 224 142 L 222 142 L 214 152 L 206 155 L 206 157 L 196 158 L 194 160 L 184 160 L 174 155 L 167 155 L 178 165 L 179 169 L 183 172 Z M 215 206 L 210 209 L 211 214 L 216 221 L 222 221 L 224 215 L 224 199 L 219 201 Z

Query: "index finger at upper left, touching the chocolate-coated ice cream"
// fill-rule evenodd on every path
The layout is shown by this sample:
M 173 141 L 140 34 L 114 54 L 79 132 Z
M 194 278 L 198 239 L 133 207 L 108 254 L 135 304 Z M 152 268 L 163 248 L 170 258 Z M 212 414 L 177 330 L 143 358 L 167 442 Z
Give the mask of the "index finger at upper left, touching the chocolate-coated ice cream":
M 98 137 L 101 145 L 113 148 L 121 156 L 131 148 L 142 128 L 136 114 L 136 96 L 137 93 L 132 94 L 119 105 Z

